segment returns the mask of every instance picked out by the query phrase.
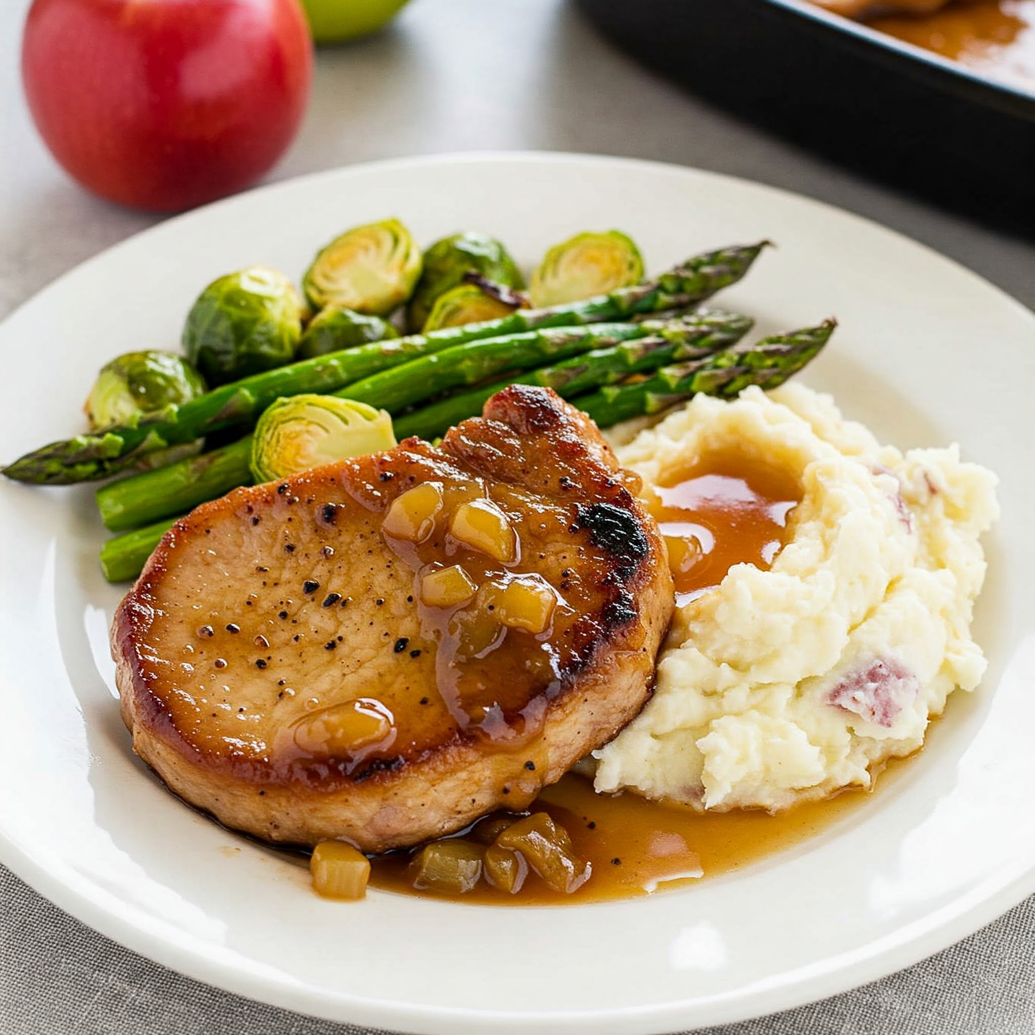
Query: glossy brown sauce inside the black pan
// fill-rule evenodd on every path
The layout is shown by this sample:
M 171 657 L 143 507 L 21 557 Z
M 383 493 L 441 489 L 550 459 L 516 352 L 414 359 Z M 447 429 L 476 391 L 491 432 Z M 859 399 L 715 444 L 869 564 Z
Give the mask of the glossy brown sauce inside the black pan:
M 955 0 L 934 14 L 868 24 L 995 79 L 1035 87 L 1035 0 Z

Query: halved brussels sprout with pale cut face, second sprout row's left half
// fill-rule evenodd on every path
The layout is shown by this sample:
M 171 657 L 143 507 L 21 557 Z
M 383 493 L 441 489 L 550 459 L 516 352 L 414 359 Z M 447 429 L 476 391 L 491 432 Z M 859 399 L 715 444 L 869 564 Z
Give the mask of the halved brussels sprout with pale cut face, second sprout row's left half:
M 317 253 L 302 277 L 314 308 L 327 305 L 387 316 L 420 276 L 420 249 L 398 219 L 347 230 Z

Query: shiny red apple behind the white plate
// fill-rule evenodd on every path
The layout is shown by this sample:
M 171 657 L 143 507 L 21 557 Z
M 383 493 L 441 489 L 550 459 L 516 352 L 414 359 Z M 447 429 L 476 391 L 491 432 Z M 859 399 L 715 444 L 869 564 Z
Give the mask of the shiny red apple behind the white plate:
M 298 0 L 35 0 L 22 79 L 47 146 L 102 198 L 177 211 L 294 139 L 313 77 Z

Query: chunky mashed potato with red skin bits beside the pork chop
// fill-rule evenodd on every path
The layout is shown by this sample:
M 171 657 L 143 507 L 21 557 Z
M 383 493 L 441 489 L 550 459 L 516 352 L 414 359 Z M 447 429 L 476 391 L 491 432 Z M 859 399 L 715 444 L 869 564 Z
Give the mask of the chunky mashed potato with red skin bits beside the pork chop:
M 799 480 L 786 544 L 770 570 L 735 565 L 677 610 L 654 697 L 595 752 L 597 791 L 775 810 L 865 787 L 984 672 L 970 623 L 989 471 L 955 446 L 881 446 L 800 385 L 700 395 L 617 447 L 648 483 L 731 449 Z

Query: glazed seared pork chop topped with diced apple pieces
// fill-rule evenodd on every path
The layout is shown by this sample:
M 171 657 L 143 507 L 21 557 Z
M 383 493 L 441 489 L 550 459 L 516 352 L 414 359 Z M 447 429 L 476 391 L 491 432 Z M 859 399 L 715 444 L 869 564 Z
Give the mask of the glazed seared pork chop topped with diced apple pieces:
M 198 507 L 115 617 L 135 749 L 272 841 L 381 852 L 527 806 L 649 693 L 673 588 L 637 487 L 513 386 L 438 448 Z

